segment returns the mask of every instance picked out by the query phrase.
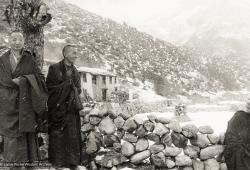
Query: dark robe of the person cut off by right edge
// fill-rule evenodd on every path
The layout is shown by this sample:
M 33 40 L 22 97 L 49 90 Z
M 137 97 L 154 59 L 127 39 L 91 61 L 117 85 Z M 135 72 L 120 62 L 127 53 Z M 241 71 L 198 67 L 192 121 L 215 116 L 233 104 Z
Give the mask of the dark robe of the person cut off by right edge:
M 228 122 L 225 145 L 228 170 L 250 170 L 250 113 L 234 114 Z

